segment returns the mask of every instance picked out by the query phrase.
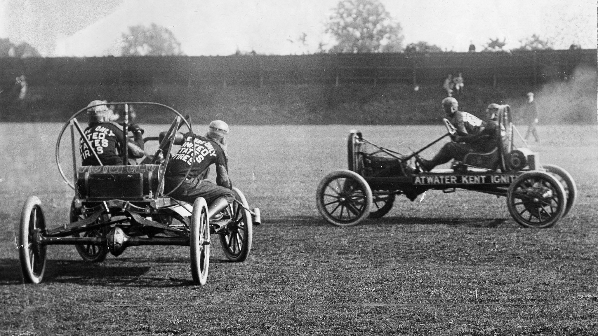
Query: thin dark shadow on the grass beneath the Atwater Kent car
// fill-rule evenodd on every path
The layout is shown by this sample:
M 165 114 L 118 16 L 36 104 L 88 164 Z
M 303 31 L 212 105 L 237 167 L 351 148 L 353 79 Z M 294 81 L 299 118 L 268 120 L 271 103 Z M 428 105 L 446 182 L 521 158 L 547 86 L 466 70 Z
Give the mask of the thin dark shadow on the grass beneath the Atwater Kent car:
M 358 225 L 451 225 L 463 227 L 496 228 L 509 219 L 505 218 L 420 218 L 420 217 L 398 217 L 388 216 L 383 218 L 368 218 Z M 287 216 L 280 218 L 269 218 L 261 226 L 291 224 L 294 227 L 323 227 L 329 224 L 320 216 Z

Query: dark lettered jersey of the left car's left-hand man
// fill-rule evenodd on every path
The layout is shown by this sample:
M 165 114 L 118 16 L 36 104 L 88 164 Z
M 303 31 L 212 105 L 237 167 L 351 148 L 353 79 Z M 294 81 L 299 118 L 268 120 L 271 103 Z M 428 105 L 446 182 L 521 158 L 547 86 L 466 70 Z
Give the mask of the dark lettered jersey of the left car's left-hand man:
M 123 130 L 114 123 L 93 123 L 84 131 L 91 148 L 105 165 L 124 164 L 122 157 Z M 83 166 L 99 166 L 87 143 L 79 140 Z

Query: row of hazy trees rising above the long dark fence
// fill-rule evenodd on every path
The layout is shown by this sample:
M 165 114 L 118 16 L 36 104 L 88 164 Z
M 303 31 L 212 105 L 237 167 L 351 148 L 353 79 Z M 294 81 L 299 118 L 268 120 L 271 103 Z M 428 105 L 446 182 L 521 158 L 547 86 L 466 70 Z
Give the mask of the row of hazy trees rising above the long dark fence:
M 403 47 L 405 36 L 397 22 L 379 0 L 341 0 L 325 22 L 325 33 L 333 42 L 320 42 L 316 53 L 440 53 L 441 47 L 425 41 Z M 124 45 L 120 56 L 183 56 L 181 43 L 171 30 L 151 23 L 149 26 L 130 26 L 122 33 Z M 291 42 L 306 45 L 306 33 Z M 505 51 L 505 39 L 490 38 L 481 51 Z M 520 47 L 514 50 L 551 50 L 549 39 L 533 34 L 520 40 Z M 571 45 L 571 48 L 579 48 Z M 470 45 L 469 51 L 475 51 Z M 236 54 L 242 54 L 237 50 Z M 246 54 L 256 54 L 250 51 Z M 27 43 L 14 45 L 7 39 L 0 39 L 0 57 L 39 57 L 38 51 Z

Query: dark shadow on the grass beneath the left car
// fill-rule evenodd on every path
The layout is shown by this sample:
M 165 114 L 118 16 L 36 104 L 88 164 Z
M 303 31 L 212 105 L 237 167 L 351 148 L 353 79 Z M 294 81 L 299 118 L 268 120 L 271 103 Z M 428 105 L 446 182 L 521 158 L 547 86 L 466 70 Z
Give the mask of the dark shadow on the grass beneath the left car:
M 73 283 L 77 285 L 93 286 L 133 286 L 133 287 L 179 287 L 194 286 L 196 283 L 188 278 L 178 279 L 175 277 L 148 277 L 144 276 L 152 267 L 160 267 L 164 261 L 184 262 L 189 264 L 189 259 L 183 258 L 119 258 L 118 264 L 127 262 L 127 265 L 111 265 L 114 259 L 91 264 L 84 261 L 73 260 L 47 260 L 43 283 Z M 155 265 L 130 265 L 130 262 Z M 219 264 L 228 261 L 210 260 L 210 264 Z M 20 285 L 23 283 L 23 276 L 19 259 L 0 259 L 0 286 Z

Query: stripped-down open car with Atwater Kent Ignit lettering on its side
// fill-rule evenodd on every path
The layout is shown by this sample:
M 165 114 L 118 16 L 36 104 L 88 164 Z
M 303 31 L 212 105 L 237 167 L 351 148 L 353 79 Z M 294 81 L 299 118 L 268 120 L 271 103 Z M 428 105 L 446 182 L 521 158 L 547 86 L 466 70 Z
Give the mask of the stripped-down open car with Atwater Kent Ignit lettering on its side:
M 523 227 L 548 228 L 569 212 L 576 197 L 572 176 L 561 167 L 539 164 L 538 155 L 527 146 L 514 148 L 514 133 L 521 135 L 512 124 L 509 105 L 498 111 L 498 148 L 466 154 L 451 169 L 426 172 L 411 159 L 456 133 L 449 120 L 444 123 L 445 135 L 410 155 L 375 145 L 352 130 L 347 139 L 349 169 L 329 173 L 318 185 L 321 215 L 332 225 L 356 225 L 386 215 L 397 195 L 413 201 L 426 190 L 450 193 L 457 188 L 507 197 L 509 212 Z

